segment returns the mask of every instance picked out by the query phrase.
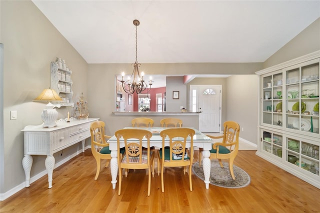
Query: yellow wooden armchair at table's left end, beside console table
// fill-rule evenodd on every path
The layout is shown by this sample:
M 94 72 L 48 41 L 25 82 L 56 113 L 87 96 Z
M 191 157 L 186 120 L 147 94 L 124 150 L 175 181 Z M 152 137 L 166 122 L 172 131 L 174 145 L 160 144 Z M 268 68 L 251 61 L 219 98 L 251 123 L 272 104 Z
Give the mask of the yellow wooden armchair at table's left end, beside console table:
M 94 121 L 90 125 L 91 134 L 91 152 L 96 161 L 96 173 L 94 179 L 96 180 L 100 173 L 101 159 L 107 159 L 105 167 L 109 164 L 111 159 L 109 143 L 106 142 L 111 136 L 104 134 L 104 122 Z

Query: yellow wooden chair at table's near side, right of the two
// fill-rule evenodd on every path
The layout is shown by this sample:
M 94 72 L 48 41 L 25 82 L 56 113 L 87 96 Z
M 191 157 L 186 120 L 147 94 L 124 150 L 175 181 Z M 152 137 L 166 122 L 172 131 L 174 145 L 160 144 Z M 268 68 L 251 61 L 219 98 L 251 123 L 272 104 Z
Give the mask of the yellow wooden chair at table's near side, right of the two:
M 163 171 L 164 167 L 183 166 L 185 174 L 185 166 L 188 166 L 189 185 L 192 191 L 191 166 L 193 161 L 193 135 L 194 130 L 191 128 L 168 128 L 160 132 L 162 137 L 162 149 L 158 151 L 158 159 L 161 165 L 161 189 L 164 192 Z M 164 146 L 165 137 L 169 138 L 170 146 Z M 186 152 L 186 140 L 190 137 L 190 148 Z M 178 137 L 178 139 L 176 138 Z M 187 153 L 187 154 L 186 154 Z

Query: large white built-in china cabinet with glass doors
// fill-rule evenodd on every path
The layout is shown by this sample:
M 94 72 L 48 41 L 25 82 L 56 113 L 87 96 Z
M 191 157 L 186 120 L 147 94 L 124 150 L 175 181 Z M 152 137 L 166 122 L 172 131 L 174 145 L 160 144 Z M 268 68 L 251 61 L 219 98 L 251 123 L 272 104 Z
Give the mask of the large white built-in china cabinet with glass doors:
M 256 154 L 320 188 L 320 50 L 257 71 Z

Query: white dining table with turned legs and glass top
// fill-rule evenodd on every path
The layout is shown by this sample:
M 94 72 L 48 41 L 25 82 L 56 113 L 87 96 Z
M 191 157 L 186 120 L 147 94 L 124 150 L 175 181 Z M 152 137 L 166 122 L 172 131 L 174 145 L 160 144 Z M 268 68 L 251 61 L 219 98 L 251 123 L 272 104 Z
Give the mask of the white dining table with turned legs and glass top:
M 162 147 L 162 137 L 160 136 L 160 131 L 163 129 L 166 129 L 166 127 L 125 127 L 125 128 L 139 128 L 139 129 L 147 129 L 150 132 L 152 132 L 152 136 L 150 138 L 150 146 L 155 146 L 156 148 L 161 148 Z M 191 127 L 190 127 L 191 128 Z M 209 188 L 209 177 L 210 177 L 210 168 L 211 168 L 211 161 L 209 159 L 210 156 L 210 149 L 212 148 L 212 139 L 199 130 L 194 129 L 195 134 L 193 135 L 193 146 L 203 148 L 202 151 L 202 166 L 203 166 L 203 174 L 204 174 L 204 183 L 205 183 L 205 188 Z M 179 138 L 176 138 L 178 140 Z M 180 138 L 181 139 L 181 138 Z M 145 141 L 145 143 L 143 143 Z M 142 140 L 142 145 L 147 146 L 146 139 Z M 169 140 L 165 139 L 165 146 L 169 146 Z M 110 160 L 110 169 L 111 169 L 111 183 L 112 183 L 112 188 L 115 188 L 116 185 L 116 177 L 118 173 L 118 164 L 117 164 L 117 140 L 115 135 L 110 137 L 108 139 L 109 143 L 109 149 L 111 150 L 111 160 Z M 124 147 L 124 140 L 120 139 L 120 147 Z M 186 147 L 190 147 L 190 139 L 187 140 Z

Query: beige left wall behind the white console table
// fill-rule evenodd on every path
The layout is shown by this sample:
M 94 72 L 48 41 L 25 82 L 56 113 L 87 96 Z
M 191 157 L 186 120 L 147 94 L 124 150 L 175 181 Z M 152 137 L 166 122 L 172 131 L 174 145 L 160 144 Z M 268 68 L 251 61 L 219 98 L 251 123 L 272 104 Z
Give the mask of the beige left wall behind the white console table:
M 0 42 L 3 43 L 3 155 L 1 157 L 0 193 L 24 183 L 22 168 L 24 154 L 23 129 L 26 125 L 42 123 L 40 113 L 44 103 L 32 100 L 50 86 L 50 61 L 65 59 L 72 69 L 74 100 L 82 91 L 86 94 L 87 63 L 56 30 L 32 1 L 0 1 Z M 1 89 L 2 91 L 2 89 Z M 17 119 L 10 120 L 10 111 L 17 111 Z M 59 118 L 66 117 L 67 107 L 58 109 Z M 54 155 L 59 162 L 79 150 L 74 145 Z M 45 170 L 45 156 L 34 156 L 31 177 Z M 54 176 L 54 174 L 53 174 Z M 23 184 L 22 184 L 23 185 Z

